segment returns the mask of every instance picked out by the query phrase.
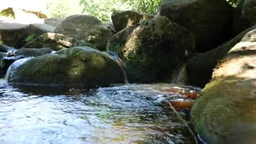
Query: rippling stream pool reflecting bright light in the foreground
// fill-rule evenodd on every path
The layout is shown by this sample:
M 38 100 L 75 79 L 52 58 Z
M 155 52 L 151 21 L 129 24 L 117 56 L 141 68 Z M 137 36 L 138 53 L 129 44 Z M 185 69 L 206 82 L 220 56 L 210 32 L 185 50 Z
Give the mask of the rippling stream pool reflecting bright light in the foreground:
M 0 144 L 192 144 L 163 102 L 181 95 L 159 91 L 174 86 L 14 88 L 3 81 Z

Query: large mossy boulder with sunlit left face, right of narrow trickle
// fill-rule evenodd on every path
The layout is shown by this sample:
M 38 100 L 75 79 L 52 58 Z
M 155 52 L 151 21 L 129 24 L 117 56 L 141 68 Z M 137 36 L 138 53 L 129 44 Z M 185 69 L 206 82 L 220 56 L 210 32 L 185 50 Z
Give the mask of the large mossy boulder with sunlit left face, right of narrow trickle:
M 171 74 L 194 51 L 194 37 L 159 16 L 117 32 L 107 50 L 125 62 L 132 83 L 170 82 Z

